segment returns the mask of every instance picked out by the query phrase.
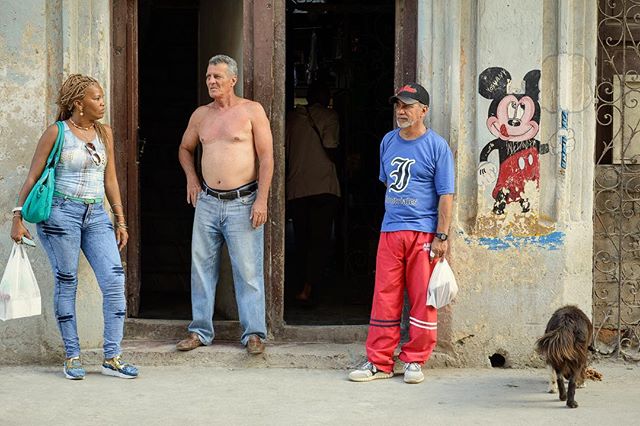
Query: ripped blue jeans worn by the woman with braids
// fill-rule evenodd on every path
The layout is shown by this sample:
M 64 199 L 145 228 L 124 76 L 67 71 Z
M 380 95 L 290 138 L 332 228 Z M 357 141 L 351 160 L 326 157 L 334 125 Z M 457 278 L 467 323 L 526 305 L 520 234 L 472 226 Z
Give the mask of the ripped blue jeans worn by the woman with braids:
M 76 323 L 80 249 L 93 268 L 102 291 L 104 357 L 120 355 L 126 316 L 124 269 L 113 224 L 104 206 L 56 196 L 51 216 L 38 223 L 37 229 L 53 270 L 53 304 L 67 358 L 80 355 Z

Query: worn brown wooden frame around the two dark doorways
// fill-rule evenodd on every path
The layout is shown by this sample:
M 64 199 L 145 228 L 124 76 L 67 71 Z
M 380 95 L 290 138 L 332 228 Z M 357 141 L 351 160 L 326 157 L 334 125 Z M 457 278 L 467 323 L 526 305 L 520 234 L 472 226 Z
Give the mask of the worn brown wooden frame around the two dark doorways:
M 285 1 L 243 0 L 244 97 L 262 104 L 271 122 L 274 142 L 275 170 L 264 245 L 267 324 L 271 335 L 278 340 L 359 340 L 366 333 L 366 325 L 287 326 L 284 322 Z M 417 0 L 396 0 L 396 87 L 414 81 L 416 77 L 417 9 Z M 137 164 L 138 1 L 112 0 L 112 22 L 111 117 L 116 146 L 120 148 L 116 150 L 118 176 L 129 218 L 130 240 L 125 253 L 128 315 L 136 317 L 140 308 L 141 279 Z

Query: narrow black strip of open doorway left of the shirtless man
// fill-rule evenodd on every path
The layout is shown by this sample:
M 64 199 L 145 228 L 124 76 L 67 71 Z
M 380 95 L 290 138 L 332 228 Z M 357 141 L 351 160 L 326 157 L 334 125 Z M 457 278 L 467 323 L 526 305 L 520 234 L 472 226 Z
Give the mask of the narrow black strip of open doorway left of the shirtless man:
M 193 209 L 178 146 L 198 105 L 197 3 L 139 1 L 142 318 L 191 317 Z

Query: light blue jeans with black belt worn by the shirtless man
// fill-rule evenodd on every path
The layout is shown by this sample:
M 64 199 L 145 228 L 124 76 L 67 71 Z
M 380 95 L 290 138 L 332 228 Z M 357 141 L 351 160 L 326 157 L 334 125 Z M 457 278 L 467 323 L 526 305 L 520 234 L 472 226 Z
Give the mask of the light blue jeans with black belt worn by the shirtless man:
M 249 336 L 267 334 L 264 311 L 264 226 L 251 226 L 256 193 L 235 200 L 219 200 L 201 192 L 196 203 L 191 240 L 191 306 L 189 331 L 200 341 L 213 341 L 213 309 L 220 275 L 220 250 L 227 244 L 238 301 L 243 345 Z

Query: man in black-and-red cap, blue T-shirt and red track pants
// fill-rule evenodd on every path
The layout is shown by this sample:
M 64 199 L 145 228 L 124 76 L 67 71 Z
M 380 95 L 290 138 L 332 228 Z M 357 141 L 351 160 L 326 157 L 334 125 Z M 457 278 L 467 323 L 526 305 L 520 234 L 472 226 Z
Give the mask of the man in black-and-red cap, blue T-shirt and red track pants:
M 409 341 L 400 352 L 404 381 L 424 380 L 422 365 L 437 338 L 437 310 L 427 306 L 433 266 L 448 248 L 454 193 L 453 155 L 447 141 L 424 118 L 429 93 L 417 83 L 389 99 L 398 128 L 380 144 L 380 180 L 386 185 L 385 214 L 378 244 L 376 283 L 367 336 L 367 361 L 349 374 L 355 382 L 393 376 L 400 342 L 404 290 L 409 295 Z

